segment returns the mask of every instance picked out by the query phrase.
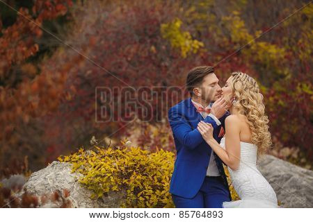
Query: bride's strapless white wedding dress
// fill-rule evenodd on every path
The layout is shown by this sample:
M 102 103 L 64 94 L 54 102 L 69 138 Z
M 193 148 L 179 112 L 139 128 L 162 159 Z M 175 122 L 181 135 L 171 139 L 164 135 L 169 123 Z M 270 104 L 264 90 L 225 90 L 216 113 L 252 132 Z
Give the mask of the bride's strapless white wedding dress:
M 227 168 L 232 185 L 241 200 L 224 202 L 223 207 L 279 207 L 275 191 L 257 169 L 257 146 L 246 142 L 240 143 L 239 169 L 233 171 L 230 167 Z M 220 140 L 220 146 L 225 149 L 225 137 Z

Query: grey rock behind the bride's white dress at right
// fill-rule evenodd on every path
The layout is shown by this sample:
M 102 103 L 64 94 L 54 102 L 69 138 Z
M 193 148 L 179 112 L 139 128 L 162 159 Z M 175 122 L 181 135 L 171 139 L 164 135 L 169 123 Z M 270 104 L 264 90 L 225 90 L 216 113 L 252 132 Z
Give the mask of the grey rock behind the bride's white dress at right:
M 282 207 L 313 207 L 313 171 L 266 155 L 259 171 L 277 194 Z

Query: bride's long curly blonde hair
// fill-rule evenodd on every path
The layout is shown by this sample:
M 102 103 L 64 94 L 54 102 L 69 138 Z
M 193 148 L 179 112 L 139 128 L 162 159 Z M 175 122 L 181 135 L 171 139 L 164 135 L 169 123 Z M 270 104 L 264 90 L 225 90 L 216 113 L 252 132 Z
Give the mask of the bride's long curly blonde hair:
M 268 117 L 264 110 L 264 96 L 259 92 L 259 85 L 254 78 L 240 71 L 231 74 L 230 87 L 236 103 L 234 108 L 248 118 L 252 132 L 252 144 L 257 145 L 257 159 L 272 148 L 271 133 L 268 131 Z

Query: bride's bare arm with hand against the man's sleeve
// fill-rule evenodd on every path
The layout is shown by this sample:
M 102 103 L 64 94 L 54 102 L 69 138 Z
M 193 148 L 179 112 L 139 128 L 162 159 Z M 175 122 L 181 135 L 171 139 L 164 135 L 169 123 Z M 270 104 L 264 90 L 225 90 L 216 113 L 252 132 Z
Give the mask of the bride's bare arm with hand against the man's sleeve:
M 240 162 L 240 129 L 239 119 L 234 115 L 230 115 L 225 119 L 225 150 L 218 144 L 213 137 L 213 128 L 208 123 L 199 123 L 198 130 L 200 131 L 203 139 L 211 148 L 214 153 L 223 160 L 228 167 L 236 170 Z

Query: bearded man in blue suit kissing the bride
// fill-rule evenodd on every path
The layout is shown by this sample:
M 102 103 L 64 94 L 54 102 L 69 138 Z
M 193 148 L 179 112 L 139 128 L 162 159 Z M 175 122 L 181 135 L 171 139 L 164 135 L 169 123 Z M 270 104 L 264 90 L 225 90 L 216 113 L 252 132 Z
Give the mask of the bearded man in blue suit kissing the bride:
M 222 207 L 224 201 L 232 200 L 223 164 L 204 142 L 197 126 L 200 121 L 211 123 L 214 138 L 220 143 L 225 133 L 229 104 L 220 98 L 221 88 L 213 67 L 191 69 L 186 88 L 191 98 L 168 110 L 177 150 L 170 180 L 172 200 L 177 208 Z

